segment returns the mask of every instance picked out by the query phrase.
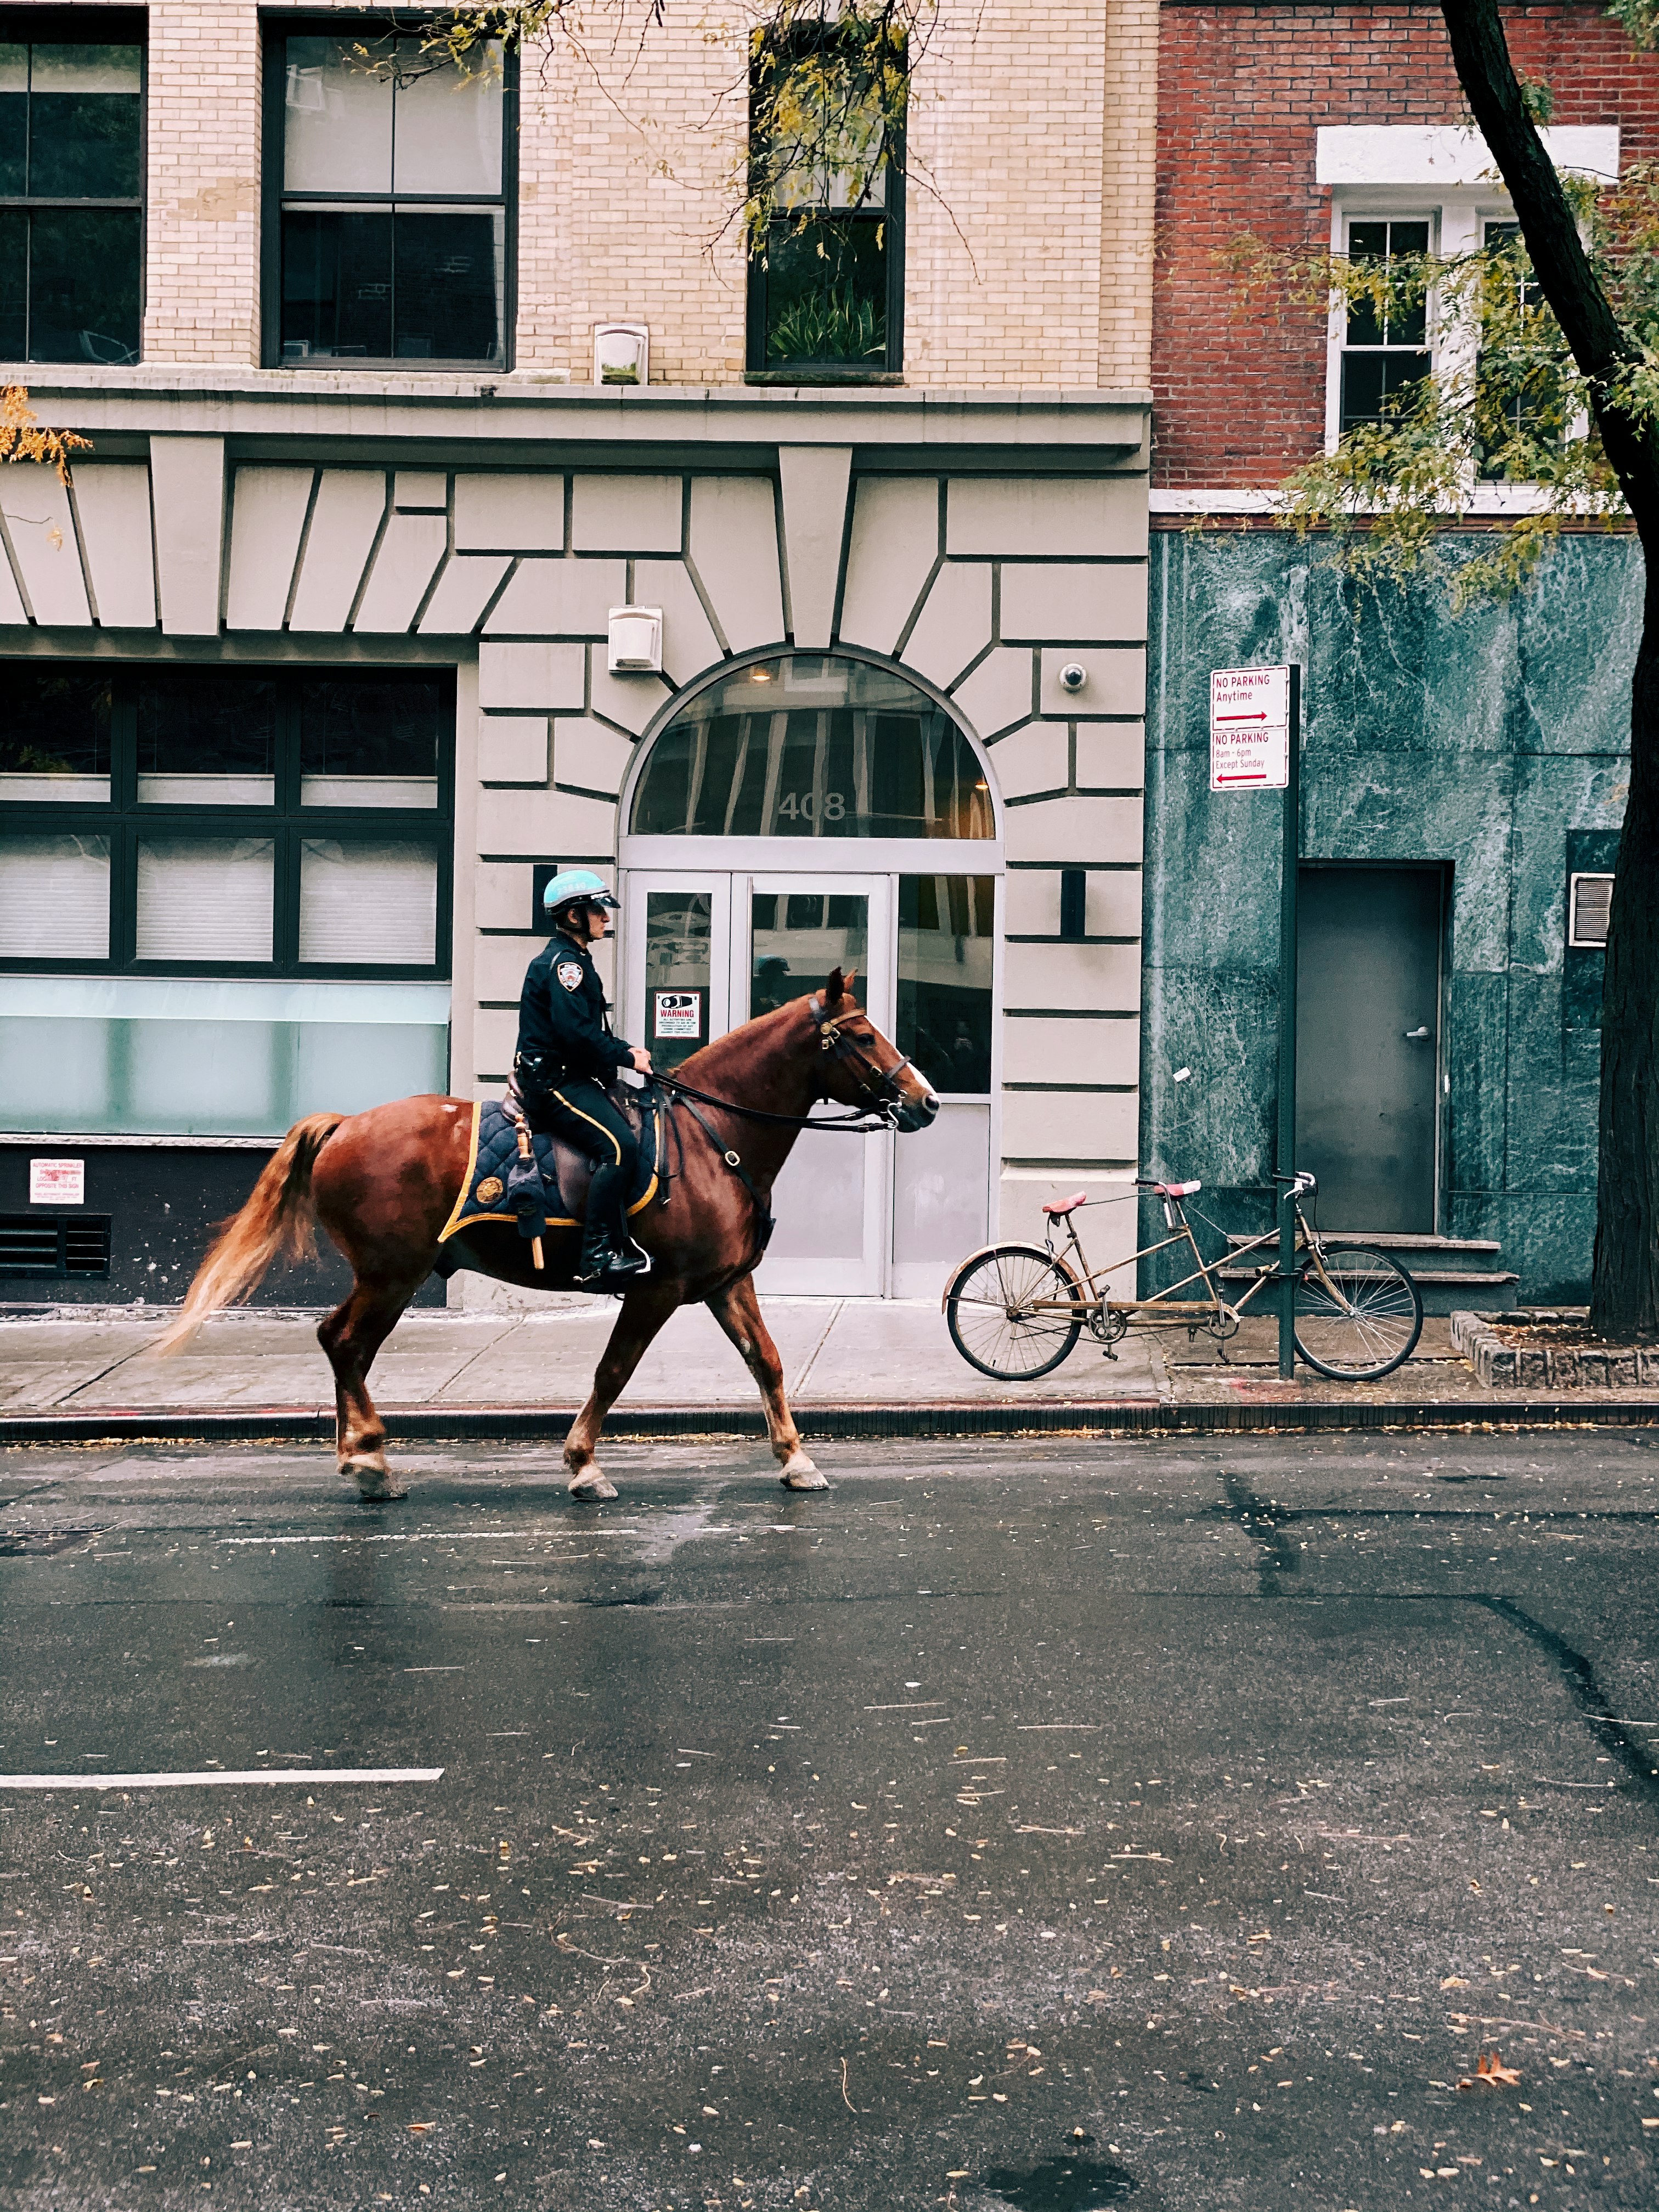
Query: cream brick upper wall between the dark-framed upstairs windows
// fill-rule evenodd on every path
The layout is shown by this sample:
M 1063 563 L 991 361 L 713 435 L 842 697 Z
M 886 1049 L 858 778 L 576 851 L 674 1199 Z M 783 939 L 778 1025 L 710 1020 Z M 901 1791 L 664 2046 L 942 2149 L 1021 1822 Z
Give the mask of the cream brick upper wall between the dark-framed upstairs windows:
M 263 9 L 283 13 L 327 4 Z M 148 20 L 144 358 L 252 365 L 261 11 L 155 0 Z M 750 22 L 672 11 L 613 51 L 595 9 L 584 44 L 524 55 L 520 372 L 586 383 L 615 319 L 650 325 L 653 383 L 741 383 Z M 909 126 L 907 383 L 1146 385 L 1155 104 L 1155 0 L 942 0 Z

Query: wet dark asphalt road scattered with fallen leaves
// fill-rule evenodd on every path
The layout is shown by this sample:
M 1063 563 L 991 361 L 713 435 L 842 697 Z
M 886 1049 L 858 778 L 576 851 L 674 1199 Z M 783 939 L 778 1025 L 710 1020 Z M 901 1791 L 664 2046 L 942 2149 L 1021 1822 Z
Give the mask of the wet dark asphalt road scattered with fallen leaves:
M 0 1455 L 0 2203 L 1659 2197 L 1659 1438 Z M 1500 2048 L 1517 2081 L 1458 2088 Z

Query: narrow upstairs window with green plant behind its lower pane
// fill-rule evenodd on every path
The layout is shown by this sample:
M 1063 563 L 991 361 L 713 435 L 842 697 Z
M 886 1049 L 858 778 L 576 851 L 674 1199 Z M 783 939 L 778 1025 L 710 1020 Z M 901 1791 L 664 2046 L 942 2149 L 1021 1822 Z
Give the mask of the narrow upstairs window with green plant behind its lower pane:
M 869 62 L 836 60 L 836 35 L 796 33 L 794 131 L 752 91 L 752 181 L 770 217 L 750 252 L 750 376 L 841 383 L 905 365 L 902 133 L 880 115 Z

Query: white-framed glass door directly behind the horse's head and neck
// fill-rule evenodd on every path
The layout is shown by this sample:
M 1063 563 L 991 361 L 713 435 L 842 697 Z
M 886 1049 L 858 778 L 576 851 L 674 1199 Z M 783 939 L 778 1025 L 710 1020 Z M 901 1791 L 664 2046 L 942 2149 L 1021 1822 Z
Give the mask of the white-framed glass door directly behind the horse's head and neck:
M 752 1020 L 856 973 L 858 1004 L 894 1031 L 889 876 L 739 876 L 732 896 L 732 1018 Z M 823 1115 L 841 1106 L 816 1108 Z M 776 1181 L 779 1225 L 759 1270 L 772 1296 L 880 1296 L 889 1241 L 894 1139 L 803 1130 Z

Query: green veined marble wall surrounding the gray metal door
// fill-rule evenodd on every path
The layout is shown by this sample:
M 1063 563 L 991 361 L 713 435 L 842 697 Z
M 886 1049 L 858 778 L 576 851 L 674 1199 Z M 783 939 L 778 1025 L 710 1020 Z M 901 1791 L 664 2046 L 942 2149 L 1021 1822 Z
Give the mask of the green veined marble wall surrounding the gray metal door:
M 1155 533 L 1141 1172 L 1270 1223 L 1279 814 L 1210 796 L 1208 688 L 1301 661 L 1303 856 L 1451 867 L 1440 1228 L 1500 1239 L 1524 1298 L 1586 1296 L 1601 956 L 1566 951 L 1566 876 L 1617 843 L 1639 617 L 1626 538 L 1568 538 L 1453 615 L 1436 580 L 1356 588 L 1279 531 Z

